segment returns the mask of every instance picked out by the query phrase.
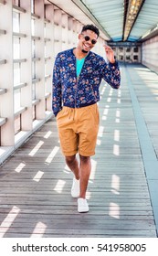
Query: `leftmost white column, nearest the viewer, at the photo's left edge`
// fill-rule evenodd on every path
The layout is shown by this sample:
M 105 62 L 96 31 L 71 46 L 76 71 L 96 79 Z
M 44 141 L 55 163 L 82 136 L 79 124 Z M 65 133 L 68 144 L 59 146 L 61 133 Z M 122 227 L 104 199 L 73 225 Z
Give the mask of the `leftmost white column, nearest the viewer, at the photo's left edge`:
M 1 116 L 7 118 L 7 122 L 1 127 L 1 145 L 15 144 L 14 128 L 14 104 L 13 104 L 13 22 L 12 1 L 7 1 L 0 6 L 0 24 L 6 31 L 0 36 L 1 59 L 6 59 L 6 64 L 1 65 L 0 84 L 6 89 L 6 93 L 1 95 Z

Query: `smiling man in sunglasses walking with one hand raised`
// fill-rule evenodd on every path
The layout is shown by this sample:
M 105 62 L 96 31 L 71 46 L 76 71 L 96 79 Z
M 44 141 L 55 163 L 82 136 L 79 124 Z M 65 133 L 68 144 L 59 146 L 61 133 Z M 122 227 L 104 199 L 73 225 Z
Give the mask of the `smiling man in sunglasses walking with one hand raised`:
M 99 130 L 100 82 L 118 89 L 121 80 L 111 47 L 104 46 L 109 63 L 90 51 L 99 36 L 97 27 L 82 27 L 77 48 L 58 53 L 53 70 L 53 112 L 63 155 L 74 174 L 71 196 L 78 197 L 79 212 L 89 211 L 86 191 Z

